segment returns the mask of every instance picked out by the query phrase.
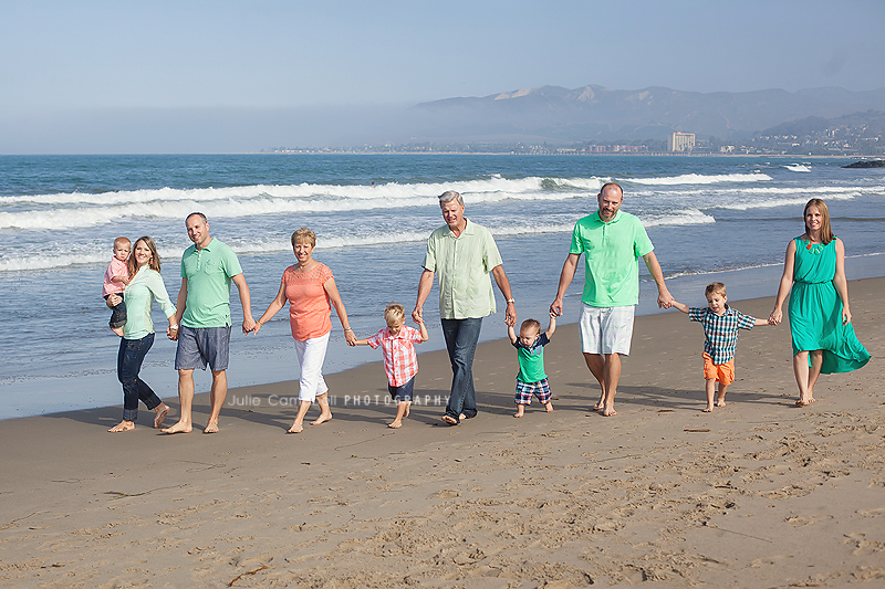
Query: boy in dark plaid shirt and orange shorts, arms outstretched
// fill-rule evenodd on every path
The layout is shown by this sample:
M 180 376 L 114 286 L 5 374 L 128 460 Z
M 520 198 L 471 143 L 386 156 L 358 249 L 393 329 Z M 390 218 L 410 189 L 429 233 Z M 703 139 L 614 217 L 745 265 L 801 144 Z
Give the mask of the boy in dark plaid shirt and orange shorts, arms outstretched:
M 757 319 L 729 307 L 726 302 L 726 285 L 714 282 L 704 291 L 707 307 L 689 307 L 684 303 L 673 302 L 673 306 L 688 314 L 693 322 L 704 326 L 704 378 L 707 380 L 707 408 L 712 411 L 716 382 L 719 382 L 719 395 L 716 407 L 726 406 L 726 389 L 735 381 L 735 349 L 738 347 L 738 329 L 752 329 L 756 325 L 769 325 L 768 319 Z

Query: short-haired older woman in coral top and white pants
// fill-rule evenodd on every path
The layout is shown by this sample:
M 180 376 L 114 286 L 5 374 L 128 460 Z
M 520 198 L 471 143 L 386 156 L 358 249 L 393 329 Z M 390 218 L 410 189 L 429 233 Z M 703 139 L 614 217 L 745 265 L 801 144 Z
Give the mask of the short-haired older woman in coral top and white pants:
M 280 292 L 271 301 L 268 311 L 256 322 L 256 333 L 273 318 L 289 301 L 289 323 L 292 337 L 295 338 L 295 351 L 301 365 L 299 408 L 295 421 L 289 433 L 303 431 L 304 416 L 315 400 L 320 406 L 320 417 L 312 421 L 319 425 L 332 419 L 329 409 L 329 387 L 323 379 L 323 360 L 329 346 L 329 334 L 332 332 L 332 307 L 344 328 L 348 345 L 354 345 L 356 336 L 347 322 L 347 311 L 341 302 L 335 278 L 329 266 L 313 259 L 316 246 L 316 234 L 302 227 L 292 233 L 292 249 L 298 264 L 283 272 Z

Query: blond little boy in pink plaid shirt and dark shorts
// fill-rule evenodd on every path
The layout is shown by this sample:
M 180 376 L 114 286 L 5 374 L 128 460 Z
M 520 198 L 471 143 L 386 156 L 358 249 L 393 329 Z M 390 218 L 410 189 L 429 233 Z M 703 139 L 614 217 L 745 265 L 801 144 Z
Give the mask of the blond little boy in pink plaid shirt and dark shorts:
M 418 374 L 418 358 L 415 355 L 415 344 L 427 341 L 427 327 L 424 322 L 418 324 L 420 332 L 408 327 L 406 312 L 403 305 L 391 303 L 384 309 L 384 320 L 387 327 L 366 339 L 357 339 L 356 346 L 371 346 L 376 349 L 381 346 L 384 357 L 384 371 L 387 372 L 387 390 L 397 402 L 396 419 L 388 428 L 400 428 L 403 418 L 408 417 L 412 406 L 412 389 L 415 386 L 415 375 Z

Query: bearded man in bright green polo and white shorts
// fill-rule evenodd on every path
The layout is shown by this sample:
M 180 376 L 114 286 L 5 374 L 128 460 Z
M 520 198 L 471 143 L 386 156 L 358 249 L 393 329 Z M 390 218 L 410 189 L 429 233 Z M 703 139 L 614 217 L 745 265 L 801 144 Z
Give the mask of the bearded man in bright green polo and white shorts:
M 664 284 L 664 273 L 642 222 L 620 210 L 624 190 L 610 182 L 602 187 L 596 199 L 600 210 L 574 225 L 569 257 L 562 266 L 556 298 L 550 311 L 562 315 L 562 298 L 583 253 L 581 350 L 602 389 L 593 409 L 614 416 L 617 413 L 615 393 L 621 380 L 621 356 L 629 356 L 634 307 L 639 302 L 639 257 L 657 284 L 658 307 L 670 308 L 673 296 Z

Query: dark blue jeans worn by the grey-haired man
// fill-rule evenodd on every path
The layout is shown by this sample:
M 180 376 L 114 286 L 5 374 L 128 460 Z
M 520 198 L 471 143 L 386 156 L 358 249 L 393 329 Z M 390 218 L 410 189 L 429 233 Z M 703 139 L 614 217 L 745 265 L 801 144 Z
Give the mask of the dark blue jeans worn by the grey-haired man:
M 460 422 L 460 416 L 477 414 L 477 391 L 473 389 L 473 355 L 477 353 L 482 317 L 442 319 L 442 335 L 451 361 L 451 395 L 446 414 Z

